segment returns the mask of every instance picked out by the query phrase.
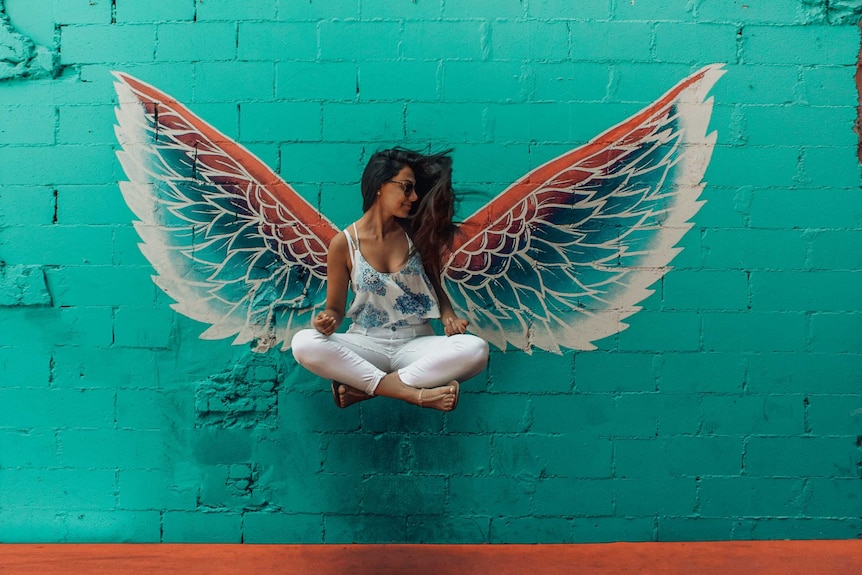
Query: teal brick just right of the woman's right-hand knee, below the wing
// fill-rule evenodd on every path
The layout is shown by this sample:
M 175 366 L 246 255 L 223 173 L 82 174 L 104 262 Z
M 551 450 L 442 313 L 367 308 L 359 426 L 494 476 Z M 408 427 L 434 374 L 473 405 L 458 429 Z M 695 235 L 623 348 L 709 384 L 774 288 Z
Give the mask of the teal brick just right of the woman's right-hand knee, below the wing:
M 537 379 L 536 365 L 542 365 L 542 377 Z M 534 351 L 527 355 L 518 351 L 495 353 L 491 356 L 488 373 L 491 390 L 496 393 L 531 394 L 569 392 L 575 375 L 575 355 Z M 529 389 L 525 389 L 527 386 Z

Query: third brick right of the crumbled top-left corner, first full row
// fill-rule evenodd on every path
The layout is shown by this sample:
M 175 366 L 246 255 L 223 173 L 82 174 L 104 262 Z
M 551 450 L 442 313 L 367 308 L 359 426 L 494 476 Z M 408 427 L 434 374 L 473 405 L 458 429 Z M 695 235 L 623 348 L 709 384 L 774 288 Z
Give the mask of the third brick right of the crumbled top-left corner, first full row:
M 240 60 L 313 61 L 317 59 L 317 24 L 308 22 L 241 22 Z

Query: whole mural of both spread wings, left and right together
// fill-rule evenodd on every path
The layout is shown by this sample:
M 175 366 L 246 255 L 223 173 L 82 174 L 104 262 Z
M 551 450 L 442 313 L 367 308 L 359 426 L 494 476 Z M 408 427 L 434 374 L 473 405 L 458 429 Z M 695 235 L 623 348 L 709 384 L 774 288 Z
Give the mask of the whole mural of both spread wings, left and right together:
M 592 349 L 627 326 L 702 202 L 723 74 L 709 66 L 468 218 L 444 285 L 501 349 Z M 173 308 L 264 351 L 310 325 L 337 233 L 248 150 L 168 95 L 116 74 L 118 152 L 141 249 Z

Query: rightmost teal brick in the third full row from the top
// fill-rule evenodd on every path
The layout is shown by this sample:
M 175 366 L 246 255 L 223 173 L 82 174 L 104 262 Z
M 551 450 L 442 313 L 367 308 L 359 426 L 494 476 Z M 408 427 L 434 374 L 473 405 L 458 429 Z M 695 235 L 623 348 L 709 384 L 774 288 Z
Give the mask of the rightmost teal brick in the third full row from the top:
M 850 104 L 850 102 L 848 102 Z M 852 146 L 856 109 L 846 106 L 744 106 L 748 145 Z M 823 126 L 830 126 L 824 130 Z

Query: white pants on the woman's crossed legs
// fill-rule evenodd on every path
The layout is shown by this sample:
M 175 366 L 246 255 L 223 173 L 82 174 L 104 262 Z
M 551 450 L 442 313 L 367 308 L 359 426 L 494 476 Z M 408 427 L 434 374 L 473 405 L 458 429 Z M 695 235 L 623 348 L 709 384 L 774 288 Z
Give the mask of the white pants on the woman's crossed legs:
M 388 373 L 398 372 L 406 385 L 429 388 L 453 379 L 463 381 L 488 363 L 488 344 L 469 334 L 434 335 L 428 324 L 365 329 L 325 336 L 304 329 L 293 336 L 293 357 L 307 370 L 374 395 Z

